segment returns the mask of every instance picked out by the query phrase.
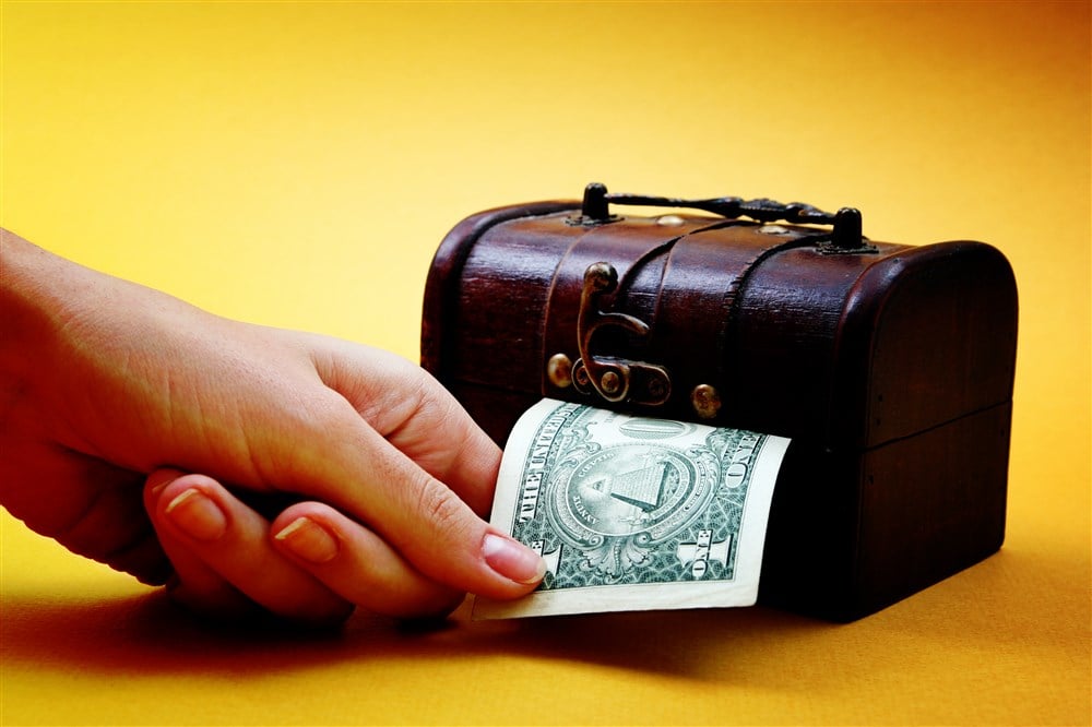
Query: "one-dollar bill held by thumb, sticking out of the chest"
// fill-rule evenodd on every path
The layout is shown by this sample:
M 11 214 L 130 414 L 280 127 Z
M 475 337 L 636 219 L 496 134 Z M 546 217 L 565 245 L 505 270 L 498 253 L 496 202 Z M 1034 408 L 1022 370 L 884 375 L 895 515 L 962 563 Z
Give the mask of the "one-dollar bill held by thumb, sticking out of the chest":
M 749 606 L 788 440 L 544 400 L 505 448 L 491 522 L 547 573 L 475 619 Z

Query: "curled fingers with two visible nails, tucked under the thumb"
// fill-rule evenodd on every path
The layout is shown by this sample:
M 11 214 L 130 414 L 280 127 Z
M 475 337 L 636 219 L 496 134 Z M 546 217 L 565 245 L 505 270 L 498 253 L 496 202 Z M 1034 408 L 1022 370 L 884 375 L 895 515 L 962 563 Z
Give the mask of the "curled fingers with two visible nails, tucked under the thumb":
M 171 596 L 200 612 L 234 617 L 257 604 L 295 620 L 336 622 L 359 606 L 419 618 L 446 615 L 463 597 L 317 502 L 293 505 L 270 527 L 218 482 L 177 470 L 154 473 L 145 499 L 176 567 Z

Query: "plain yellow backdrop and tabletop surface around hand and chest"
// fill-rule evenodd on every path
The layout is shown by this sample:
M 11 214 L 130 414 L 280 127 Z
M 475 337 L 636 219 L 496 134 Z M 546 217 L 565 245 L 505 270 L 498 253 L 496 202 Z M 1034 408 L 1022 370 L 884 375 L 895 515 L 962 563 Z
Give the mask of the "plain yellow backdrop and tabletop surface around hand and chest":
M 463 216 L 617 191 L 982 239 L 1021 321 L 1008 538 L 831 625 L 738 609 L 216 632 L 2 521 L 0 722 L 1089 724 L 1089 3 L 0 3 L 0 222 L 417 355 Z

